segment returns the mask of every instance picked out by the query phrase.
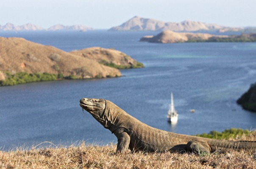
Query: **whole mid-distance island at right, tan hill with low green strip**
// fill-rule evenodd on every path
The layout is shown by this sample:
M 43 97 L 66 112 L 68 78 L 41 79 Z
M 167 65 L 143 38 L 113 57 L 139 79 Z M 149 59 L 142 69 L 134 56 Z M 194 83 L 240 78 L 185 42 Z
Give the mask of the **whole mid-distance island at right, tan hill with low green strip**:
M 165 30 L 155 36 L 143 36 L 140 41 L 162 44 L 182 42 L 256 42 L 256 33 L 242 35 L 212 35 L 209 33 L 177 33 L 171 30 Z

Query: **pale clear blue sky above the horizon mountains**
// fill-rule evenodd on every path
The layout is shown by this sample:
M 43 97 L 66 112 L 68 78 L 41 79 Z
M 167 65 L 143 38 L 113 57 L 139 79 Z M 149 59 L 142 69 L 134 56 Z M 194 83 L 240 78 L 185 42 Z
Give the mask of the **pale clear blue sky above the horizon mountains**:
M 0 0 L 0 25 L 32 23 L 109 29 L 134 16 L 256 27 L 256 0 Z

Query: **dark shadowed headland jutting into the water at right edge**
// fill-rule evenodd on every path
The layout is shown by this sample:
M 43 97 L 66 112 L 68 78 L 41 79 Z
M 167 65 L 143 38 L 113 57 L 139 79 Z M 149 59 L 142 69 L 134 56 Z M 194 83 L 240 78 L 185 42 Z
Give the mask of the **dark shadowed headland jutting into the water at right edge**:
M 245 92 L 238 100 L 243 109 L 256 112 L 256 83 L 252 84 L 247 92 Z

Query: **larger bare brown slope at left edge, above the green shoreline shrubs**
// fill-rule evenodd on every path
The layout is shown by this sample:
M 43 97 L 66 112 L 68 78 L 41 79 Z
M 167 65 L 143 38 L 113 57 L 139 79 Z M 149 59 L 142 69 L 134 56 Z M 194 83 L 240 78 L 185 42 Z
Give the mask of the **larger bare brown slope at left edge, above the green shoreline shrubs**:
M 0 37 L 0 71 L 62 73 L 81 78 L 121 76 L 119 70 L 86 57 L 44 46 L 23 38 Z M 1 75 L 1 74 L 0 74 Z

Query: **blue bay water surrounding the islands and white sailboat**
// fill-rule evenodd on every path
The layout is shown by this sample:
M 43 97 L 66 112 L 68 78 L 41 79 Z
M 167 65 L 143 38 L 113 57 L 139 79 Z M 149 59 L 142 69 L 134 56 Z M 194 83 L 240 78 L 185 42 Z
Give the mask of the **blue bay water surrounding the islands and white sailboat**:
M 256 82 L 254 43 L 149 44 L 152 32 L 0 32 L 65 51 L 114 47 L 145 64 L 112 79 L 40 82 L 0 87 L 0 147 L 116 142 L 110 131 L 79 106 L 79 99 L 106 98 L 147 125 L 181 134 L 256 128 L 256 113 L 236 100 Z M 170 92 L 179 113 L 167 123 Z M 190 113 L 195 109 L 195 113 Z

